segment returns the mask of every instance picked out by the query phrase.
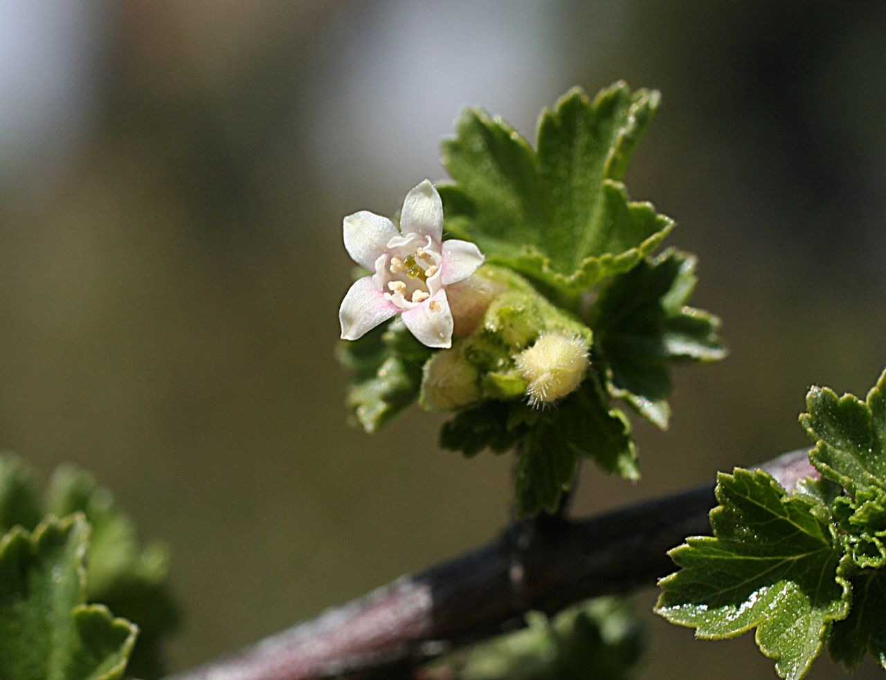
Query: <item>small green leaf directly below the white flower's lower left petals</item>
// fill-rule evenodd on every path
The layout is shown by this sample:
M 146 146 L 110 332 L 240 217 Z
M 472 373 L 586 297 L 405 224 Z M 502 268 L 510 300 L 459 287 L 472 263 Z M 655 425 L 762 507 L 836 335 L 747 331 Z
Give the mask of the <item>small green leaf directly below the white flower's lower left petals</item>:
M 338 361 L 354 371 L 347 406 L 367 432 L 384 427 L 418 397 L 431 350 L 400 319 L 338 345 Z

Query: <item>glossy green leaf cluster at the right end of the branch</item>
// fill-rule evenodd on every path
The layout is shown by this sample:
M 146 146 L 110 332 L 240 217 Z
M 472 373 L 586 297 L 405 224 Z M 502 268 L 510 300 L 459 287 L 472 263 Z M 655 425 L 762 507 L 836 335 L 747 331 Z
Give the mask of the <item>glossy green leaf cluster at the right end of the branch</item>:
M 855 668 L 886 668 L 886 371 L 862 401 L 813 387 L 800 420 L 820 479 L 788 493 L 770 475 L 719 475 L 713 537 L 671 552 L 657 611 L 731 638 L 757 628 L 779 675 L 803 677 L 827 643 Z

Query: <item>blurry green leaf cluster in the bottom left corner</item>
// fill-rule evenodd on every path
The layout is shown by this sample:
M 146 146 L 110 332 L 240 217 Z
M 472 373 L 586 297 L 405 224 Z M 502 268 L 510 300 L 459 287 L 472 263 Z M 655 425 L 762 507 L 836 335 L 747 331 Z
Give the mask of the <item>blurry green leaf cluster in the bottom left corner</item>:
M 159 543 L 139 545 L 128 516 L 92 475 L 60 466 L 40 498 L 30 468 L 18 458 L 0 455 L 0 533 L 5 534 L 0 562 L 17 569 L 24 579 L 15 585 L 18 591 L 10 582 L 12 590 L 5 597 L 11 604 L 0 611 L 0 638 L 8 641 L 8 659 L 24 659 L 26 648 L 62 645 L 59 640 L 64 638 L 65 651 L 57 653 L 53 663 L 80 658 L 77 650 L 82 645 L 92 650 L 83 653 L 96 660 L 89 675 L 81 661 L 65 663 L 82 666 L 82 672 L 74 666 L 51 669 L 37 661 L 4 666 L 6 657 L 0 657 L 0 677 L 111 680 L 127 667 L 126 660 L 130 674 L 164 674 L 159 643 L 179 621 L 167 586 L 167 548 Z M 65 575 L 64 583 L 58 584 L 62 591 L 28 585 L 39 582 L 47 571 Z M 60 607 L 54 613 L 47 609 L 50 602 Z M 111 611 L 123 618 L 112 619 Z M 58 626 L 66 628 L 60 631 Z M 126 636 L 124 629 L 130 631 Z M 85 640 L 82 645 L 77 636 Z M 116 661 L 106 661 L 112 658 Z M 36 653 L 34 659 L 38 660 Z

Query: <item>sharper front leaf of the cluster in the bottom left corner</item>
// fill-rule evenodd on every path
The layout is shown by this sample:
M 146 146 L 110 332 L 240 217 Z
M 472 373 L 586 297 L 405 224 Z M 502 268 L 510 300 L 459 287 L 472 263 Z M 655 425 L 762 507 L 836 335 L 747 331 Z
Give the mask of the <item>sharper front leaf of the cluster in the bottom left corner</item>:
M 0 677 L 116 680 L 136 626 L 85 605 L 89 524 L 49 519 L 33 534 L 16 527 L 0 542 Z

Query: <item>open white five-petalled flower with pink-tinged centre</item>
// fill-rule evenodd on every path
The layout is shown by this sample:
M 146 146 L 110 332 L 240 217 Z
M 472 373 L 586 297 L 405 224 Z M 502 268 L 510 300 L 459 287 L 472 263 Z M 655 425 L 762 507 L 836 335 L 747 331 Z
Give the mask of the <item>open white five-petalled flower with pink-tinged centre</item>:
M 441 241 L 443 204 L 428 180 L 403 201 L 400 231 L 386 217 L 362 210 L 345 218 L 345 248 L 373 274 L 354 282 L 338 309 L 341 336 L 356 340 L 403 315 L 403 323 L 428 347 L 452 345 L 447 286 L 473 274 L 485 259 L 467 241 Z

